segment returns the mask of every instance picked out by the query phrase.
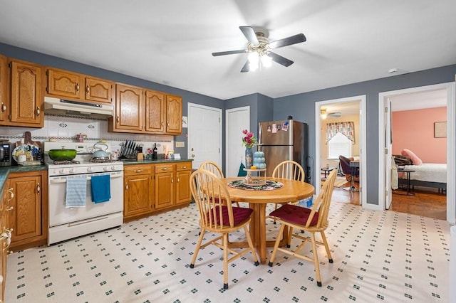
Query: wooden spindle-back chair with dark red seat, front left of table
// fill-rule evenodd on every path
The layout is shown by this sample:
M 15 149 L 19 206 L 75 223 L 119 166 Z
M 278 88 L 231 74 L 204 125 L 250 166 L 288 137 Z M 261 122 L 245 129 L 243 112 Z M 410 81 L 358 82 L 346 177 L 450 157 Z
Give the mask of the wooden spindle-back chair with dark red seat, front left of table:
M 199 234 L 190 268 L 195 267 L 200 249 L 210 244 L 217 246 L 217 248 L 222 248 L 223 288 L 228 289 L 228 264 L 230 262 L 237 260 L 247 252 L 252 252 L 254 265 L 259 265 L 257 253 L 254 250 L 252 238 L 247 229 L 247 225 L 252 220 L 253 210 L 251 208 L 232 207 L 227 184 L 224 184 L 221 179 L 210 171 L 204 169 L 194 171 L 190 176 L 190 186 L 193 198 L 195 198 L 198 206 L 199 226 L 201 227 L 201 233 Z M 241 229 L 244 230 L 249 247 L 242 250 L 229 248 L 229 233 Z M 206 232 L 219 235 L 216 238 L 206 239 L 206 242 L 203 243 Z

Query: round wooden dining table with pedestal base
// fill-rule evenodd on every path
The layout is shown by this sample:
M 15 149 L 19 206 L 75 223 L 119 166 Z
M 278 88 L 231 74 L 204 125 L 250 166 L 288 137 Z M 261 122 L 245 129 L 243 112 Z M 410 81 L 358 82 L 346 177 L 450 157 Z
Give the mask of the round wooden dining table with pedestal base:
M 222 180 L 229 185 L 232 181 L 242 180 L 242 177 L 224 178 Z M 283 184 L 283 186 L 271 190 L 248 190 L 228 186 L 229 196 L 232 201 L 247 202 L 249 203 L 249 208 L 254 210 L 249 231 L 261 263 L 266 262 L 266 247 L 274 246 L 274 240 L 266 240 L 266 204 L 297 202 L 304 198 L 309 198 L 315 192 L 314 186 L 302 181 L 270 177 L 266 178 L 266 181 L 276 181 Z M 284 235 L 284 239 L 286 239 L 286 235 Z M 247 242 L 230 243 L 230 245 L 234 248 L 242 248 L 246 247 Z

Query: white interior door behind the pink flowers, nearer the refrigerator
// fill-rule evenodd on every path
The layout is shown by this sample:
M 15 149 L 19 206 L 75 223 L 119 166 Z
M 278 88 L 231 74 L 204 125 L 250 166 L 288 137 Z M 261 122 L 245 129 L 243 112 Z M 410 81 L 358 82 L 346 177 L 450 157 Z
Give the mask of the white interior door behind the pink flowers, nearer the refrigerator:
M 245 147 L 242 145 L 242 130 L 250 129 L 250 107 L 237 107 L 226 111 L 227 115 L 227 156 L 225 176 L 234 177 L 239 172 L 241 162 L 244 162 Z M 257 136 L 255 136 L 257 137 Z

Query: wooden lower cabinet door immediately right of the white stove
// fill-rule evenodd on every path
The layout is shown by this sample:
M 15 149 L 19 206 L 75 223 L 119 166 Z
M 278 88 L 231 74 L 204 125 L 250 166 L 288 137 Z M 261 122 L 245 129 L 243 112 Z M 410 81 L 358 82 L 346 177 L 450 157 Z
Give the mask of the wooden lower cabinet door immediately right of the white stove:
M 123 216 L 150 212 L 150 174 L 125 176 Z

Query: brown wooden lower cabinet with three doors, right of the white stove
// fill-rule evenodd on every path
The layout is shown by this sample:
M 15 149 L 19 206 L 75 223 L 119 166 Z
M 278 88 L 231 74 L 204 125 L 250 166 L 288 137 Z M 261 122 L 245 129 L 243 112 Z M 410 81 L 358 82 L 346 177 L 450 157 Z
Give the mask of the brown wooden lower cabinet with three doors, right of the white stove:
M 125 165 L 124 222 L 190 203 L 191 173 L 191 161 Z

